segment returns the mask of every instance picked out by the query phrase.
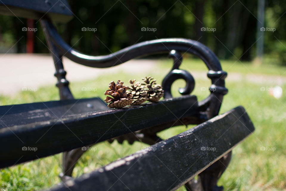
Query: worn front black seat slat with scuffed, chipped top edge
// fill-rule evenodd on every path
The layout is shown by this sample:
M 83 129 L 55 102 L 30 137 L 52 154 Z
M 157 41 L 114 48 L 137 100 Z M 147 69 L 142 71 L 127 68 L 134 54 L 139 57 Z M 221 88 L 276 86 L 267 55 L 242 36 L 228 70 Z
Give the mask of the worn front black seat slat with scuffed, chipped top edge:
M 253 131 L 244 108 L 236 107 L 50 191 L 176 190 Z

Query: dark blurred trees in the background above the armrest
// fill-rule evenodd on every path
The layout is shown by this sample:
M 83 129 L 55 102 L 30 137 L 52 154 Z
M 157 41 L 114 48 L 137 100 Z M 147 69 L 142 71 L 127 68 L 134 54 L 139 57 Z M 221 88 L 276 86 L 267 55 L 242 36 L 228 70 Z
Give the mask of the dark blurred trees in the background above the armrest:
M 86 54 L 102 55 L 135 43 L 157 38 L 191 38 L 209 46 L 220 59 L 251 60 L 255 57 L 257 1 L 247 0 L 125 0 L 71 1 L 74 18 L 57 28 L 64 40 Z M 286 1 L 266 0 L 265 54 L 285 63 Z M 23 23 L 21 22 L 23 21 Z M 25 19 L 0 16 L 0 43 L 25 52 Z M 4 27 L 5 26 L 5 27 Z M 35 52 L 48 53 L 39 22 L 35 33 Z M 82 31 L 83 27 L 96 31 Z M 142 31 L 142 27 L 156 31 Z M 215 28 L 203 31 L 202 27 Z

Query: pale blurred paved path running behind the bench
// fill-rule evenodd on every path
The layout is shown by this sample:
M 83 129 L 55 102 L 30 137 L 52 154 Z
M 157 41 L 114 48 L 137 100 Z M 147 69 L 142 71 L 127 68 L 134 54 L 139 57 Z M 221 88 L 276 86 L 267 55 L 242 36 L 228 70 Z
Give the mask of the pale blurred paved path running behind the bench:
M 134 75 L 149 73 L 158 68 L 158 60 L 131 60 L 112 68 L 91 68 L 63 58 L 67 79 L 69 81 L 84 81 L 100 75 L 130 72 Z M 144 67 L 142 67 L 144 66 Z M 140 69 L 140 70 L 139 70 Z M 206 71 L 207 72 L 207 71 Z M 195 80 L 206 79 L 206 72 L 191 71 Z M 0 54 L 0 95 L 11 95 L 21 91 L 23 87 L 39 87 L 56 83 L 55 68 L 52 57 L 41 54 Z M 265 76 L 240 73 L 229 73 L 226 81 L 243 81 L 248 83 L 271 84 L 273 86 L 286 83 L 285 77 Z

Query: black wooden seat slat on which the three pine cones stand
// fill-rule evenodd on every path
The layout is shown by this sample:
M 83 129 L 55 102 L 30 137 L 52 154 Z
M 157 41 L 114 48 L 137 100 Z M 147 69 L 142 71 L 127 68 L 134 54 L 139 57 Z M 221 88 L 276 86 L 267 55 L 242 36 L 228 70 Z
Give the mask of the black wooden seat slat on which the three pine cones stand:
M 72 150 L 160 124 L 175 124 L 178 118 L 198 117 L 198 114 L 196 96 L 181 96 L 156 104 L 2 127 L 0 153 L 5 157 L 0 158 L 0 167 Z M 22 147 L 37 149 L 27 151 L 22 150 Z

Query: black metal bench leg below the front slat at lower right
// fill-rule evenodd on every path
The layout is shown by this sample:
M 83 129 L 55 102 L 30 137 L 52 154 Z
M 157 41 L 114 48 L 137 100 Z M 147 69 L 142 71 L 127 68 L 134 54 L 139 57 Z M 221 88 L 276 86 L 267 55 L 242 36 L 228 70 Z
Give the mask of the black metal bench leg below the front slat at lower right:
M 231 151 L 198 175 L 198 180 L 190 180 L 185 184 L 189 191 L 223 191 L 217 186 L 217 181 L 226 170 L 231 159 Z

